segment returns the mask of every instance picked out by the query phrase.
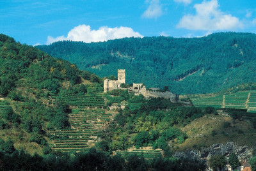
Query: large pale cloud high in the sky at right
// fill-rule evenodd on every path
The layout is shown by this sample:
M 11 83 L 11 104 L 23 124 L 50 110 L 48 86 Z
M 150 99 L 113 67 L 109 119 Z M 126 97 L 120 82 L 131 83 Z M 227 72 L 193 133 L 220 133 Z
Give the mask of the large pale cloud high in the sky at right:
M 196 15 L 184 15 L 177 27 L 205 31 L 234 30 L 243 27 L 237 17 L 223 13 L 219 6 L 217 0 L 204 0 L 201 4 L 195 4 Z

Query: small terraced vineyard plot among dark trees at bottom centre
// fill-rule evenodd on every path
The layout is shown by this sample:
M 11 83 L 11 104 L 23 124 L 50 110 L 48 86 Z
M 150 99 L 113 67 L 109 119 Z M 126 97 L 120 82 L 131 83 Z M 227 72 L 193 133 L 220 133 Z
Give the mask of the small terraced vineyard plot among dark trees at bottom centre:
M 142 155 L 145 159 L 150 160 L 156 156 L 162 156 L 161 149 L 130 149 L 128 151 L 116 151 L 116 154 L 120 154 L 127 158 L 130 154 L 137 154 L 138 156 Z

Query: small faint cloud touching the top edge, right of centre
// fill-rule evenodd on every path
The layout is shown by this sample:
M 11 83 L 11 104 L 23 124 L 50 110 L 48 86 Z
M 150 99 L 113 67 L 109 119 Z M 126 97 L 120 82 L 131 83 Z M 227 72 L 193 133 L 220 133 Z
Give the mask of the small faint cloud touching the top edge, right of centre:
M 162 6 L 159 4 L 159 0 L 146 1 L 149 3 L 148 9 L 143 13 L 142 17 L 148 19 L 157 19 L 163 15 Z

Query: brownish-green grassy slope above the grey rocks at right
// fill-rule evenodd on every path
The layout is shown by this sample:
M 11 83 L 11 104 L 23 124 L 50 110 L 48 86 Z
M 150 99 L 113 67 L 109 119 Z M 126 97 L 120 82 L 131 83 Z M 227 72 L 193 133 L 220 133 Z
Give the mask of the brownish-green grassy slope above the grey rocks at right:
M 216 118 L 216 119 L 215 119 Z M 224 122 L 231 123 L 230 127 L 224 128 Z M 231 117 L 225 115 L 208 115 L 195 119 L 184 128 L 189 138 L 175 149 L 196 149 L 208 147 L 209 145 L 225 142 L 237 142 L 239 145 L 255 145 L 256 130 L 248 121 L 237 121 L 234 123 Z M 216 135 L 212 136 L 212 130 Z

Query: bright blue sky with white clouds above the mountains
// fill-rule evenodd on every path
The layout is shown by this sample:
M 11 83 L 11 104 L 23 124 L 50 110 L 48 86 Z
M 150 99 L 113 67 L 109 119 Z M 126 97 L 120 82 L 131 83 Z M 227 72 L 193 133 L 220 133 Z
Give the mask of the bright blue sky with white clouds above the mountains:
M 0 0 L 0 15 L 0 33 L 28 45 L 256 33 L 255 0 Z

